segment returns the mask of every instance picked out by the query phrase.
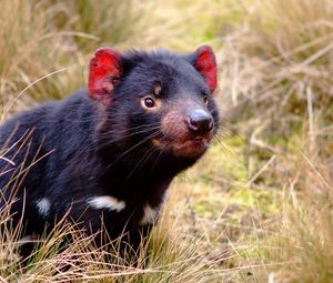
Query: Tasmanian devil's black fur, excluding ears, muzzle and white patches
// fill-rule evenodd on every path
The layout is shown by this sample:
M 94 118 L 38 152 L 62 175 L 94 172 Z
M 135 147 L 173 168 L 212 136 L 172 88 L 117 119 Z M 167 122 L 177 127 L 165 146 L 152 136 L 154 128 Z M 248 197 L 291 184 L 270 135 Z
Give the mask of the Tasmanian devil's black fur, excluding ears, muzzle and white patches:
M 137 245 L 144 205 L 160 208 L 172 179 L 201 155 L 174 156 L 153 146 L 149 138 L 161 135 L 161 119 L 171 108 L 181 112 L 180 100 L 190 100 L 211 113 L 213 132 L 218 129 L 213 97 L 209 95 L 208 107 L 202 102 L 209 89 L 193 67 L 194 57 L 168 51 L 124 53 L 122 75 L 108 108 L 80 90 L 7 121 L 0 128 L 6 158 L 0 159 L 0 206 L 14 194 L 14 224 L 23 215 L 24 234 L 41 234 L 46 223 L 51 229 L 68 213 L 69 220 L 92 233 L 100 231 L 102 221 L 110 239 L 129 232 Z M 140 101 L 157 82 L 162 107 L 150 112 Z M 125 209 L 92 209 L 87 201 L 97 195 L 124 200 Z M 46 216 L 36 205 L 43 198 L 51 204 Z

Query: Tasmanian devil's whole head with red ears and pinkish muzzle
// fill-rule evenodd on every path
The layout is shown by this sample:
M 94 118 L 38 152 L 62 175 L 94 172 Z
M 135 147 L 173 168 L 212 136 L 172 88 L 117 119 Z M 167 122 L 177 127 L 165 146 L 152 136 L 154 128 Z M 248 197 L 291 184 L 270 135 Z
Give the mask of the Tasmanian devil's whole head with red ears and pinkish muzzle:
M 143 150 L 151 156 L 200 158 L 219 123 L 215 88 L 216 61 L 209 46 L 183 55 L 102 48 L 90 62 L 90 97 L 107 111 L 104 143 L 132 151 L 130 156 Z

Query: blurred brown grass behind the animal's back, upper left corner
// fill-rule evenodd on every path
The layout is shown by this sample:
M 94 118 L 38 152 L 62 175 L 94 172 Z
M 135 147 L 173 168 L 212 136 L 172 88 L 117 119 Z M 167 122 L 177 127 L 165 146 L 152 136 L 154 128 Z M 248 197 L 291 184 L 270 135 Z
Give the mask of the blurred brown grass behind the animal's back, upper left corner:
M 99 1 L 92 6 L 85 0 L 3 1 L 1 118 L 36 100 L 59 99 L 82 88 L 92 50 L 140 37 L 138 27 L 131 24 L 140 24 L 140 9 L 129 9 L 132 2 Z

